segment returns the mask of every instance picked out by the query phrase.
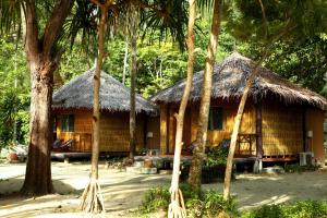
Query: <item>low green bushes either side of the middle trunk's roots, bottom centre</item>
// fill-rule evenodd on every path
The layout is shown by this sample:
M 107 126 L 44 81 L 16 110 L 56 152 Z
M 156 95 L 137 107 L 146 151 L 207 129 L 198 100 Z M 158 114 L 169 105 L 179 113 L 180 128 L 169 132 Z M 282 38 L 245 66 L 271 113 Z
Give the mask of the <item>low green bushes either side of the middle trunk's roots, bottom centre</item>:
M 187 217 L 217 217 L 220 211 L 231 217 L 238 217 L 239 213 L 234 198 L 223 201 L 222 195 L 216 191 L 202 192 L 199 195 L 187 183 L 181 183 Z M 168 186 L 158 186 L 147 191 L 144 195 L 140 211 L 148 214 L 158 209 L 168 209 L 170 193 Z

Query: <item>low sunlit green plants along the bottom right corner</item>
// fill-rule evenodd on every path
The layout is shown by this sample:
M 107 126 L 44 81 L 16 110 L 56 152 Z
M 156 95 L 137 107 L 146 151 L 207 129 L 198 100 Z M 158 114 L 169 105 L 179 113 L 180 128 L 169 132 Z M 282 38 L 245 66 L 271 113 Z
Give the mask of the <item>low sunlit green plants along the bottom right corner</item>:
M 327 202 L 299 201 L 292 204 L 264 205 L 244 211 L 242 218 L 300 218 L 327 217 Z

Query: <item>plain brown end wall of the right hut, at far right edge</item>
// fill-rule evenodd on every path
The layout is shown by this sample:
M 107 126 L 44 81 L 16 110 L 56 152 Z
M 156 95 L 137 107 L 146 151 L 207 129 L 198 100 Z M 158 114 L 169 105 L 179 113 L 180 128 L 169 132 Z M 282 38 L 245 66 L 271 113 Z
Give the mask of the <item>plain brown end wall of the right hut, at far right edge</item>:
M 313 137 L 306 140 L 308 149 L 314 153 L 315 159 L 324 164 L 324 111 L 313 108 L 307 109 L 305 112 L 305 130 L 306 132 L 313 131 Z

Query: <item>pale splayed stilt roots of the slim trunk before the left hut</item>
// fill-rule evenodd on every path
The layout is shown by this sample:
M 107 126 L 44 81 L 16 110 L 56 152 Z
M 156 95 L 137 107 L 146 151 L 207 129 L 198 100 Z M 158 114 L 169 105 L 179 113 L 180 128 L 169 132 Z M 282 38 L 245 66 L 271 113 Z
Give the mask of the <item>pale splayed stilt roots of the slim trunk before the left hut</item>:
M 80 209 L 93 214 L 106 211 L 101 189 L 97 179 L 92 178 L 89 180 L 87 187 L 82 194 Z

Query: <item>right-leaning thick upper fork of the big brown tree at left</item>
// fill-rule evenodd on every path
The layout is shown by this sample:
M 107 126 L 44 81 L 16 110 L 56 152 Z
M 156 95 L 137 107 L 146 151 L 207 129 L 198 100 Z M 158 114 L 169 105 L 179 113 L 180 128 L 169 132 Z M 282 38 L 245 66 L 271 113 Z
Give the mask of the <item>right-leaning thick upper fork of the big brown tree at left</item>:
M 60 0 L 56 4 L 43 37 L 44 55 L 49 57 L 51 49 L 60 35 L 63 22 L 71 11 L 73 2 L 74 0 Z

